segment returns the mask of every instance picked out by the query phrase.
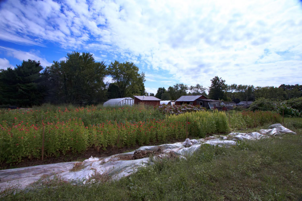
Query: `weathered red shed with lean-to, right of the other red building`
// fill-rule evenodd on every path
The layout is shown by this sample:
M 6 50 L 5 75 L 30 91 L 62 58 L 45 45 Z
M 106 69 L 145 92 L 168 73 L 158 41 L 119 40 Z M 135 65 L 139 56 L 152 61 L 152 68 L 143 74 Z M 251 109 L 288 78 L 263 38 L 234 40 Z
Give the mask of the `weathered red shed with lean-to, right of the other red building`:
M 208 99 L 204 95 L 198 96 L 182 96 L 175 101 L 175 105 L 189 104 L 200 105 L 208 109 L 214 109 L 214 107 L 220 107 L 222 101 Z

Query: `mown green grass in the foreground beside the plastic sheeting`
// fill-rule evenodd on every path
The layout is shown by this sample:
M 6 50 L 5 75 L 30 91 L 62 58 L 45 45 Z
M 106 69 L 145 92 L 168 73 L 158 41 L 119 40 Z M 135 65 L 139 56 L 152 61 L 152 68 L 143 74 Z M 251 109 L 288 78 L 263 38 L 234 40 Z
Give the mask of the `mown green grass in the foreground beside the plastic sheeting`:
M 119 181 L 89 186 L 53 181 L 2 199 L 302 200 L 302 118 L 286 118 L 284 125 L 297 135 L 244 141 L 231 148 L 204 145 L 187 160 L 156 161 Z

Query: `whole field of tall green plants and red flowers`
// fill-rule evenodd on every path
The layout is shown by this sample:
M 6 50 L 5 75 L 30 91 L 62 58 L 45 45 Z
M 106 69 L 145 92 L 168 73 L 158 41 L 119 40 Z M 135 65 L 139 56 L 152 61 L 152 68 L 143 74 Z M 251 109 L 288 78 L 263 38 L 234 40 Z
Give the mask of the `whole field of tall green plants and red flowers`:
M 175 115 L 175 108 L 144 106 L 73 108 L 49 105 L 30 110 L 1 110 L 0 164 L 14 165 L 22 160 L 41 159 L 43 127 L 44 157 L 61 157 L 64 161 L 62 156 L 81 157 L 81 153 L 85 153 L 82 157 L 86 157 L 91 150 L 91 154 L 110 154 L 108 150 L 118 153 L 142 145 L 183 141 L 186 130 L 188 137 L 203 138 L 213 133 L 227 134 L 231 130 L 247 129 L 255 124 L 281 122 L 281 116 L 272 112 L 232 112 L 229 119 L 225 112 L 190 107 L 182 108 L 182 111 L 192 112 L 178 115 Z

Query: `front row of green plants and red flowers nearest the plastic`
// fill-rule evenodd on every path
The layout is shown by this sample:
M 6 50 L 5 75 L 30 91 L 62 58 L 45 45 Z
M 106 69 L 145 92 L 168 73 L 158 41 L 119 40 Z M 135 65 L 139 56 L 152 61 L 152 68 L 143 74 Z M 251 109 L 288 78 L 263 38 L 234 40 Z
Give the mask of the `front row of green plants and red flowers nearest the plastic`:
M 88 112 L 87 110 L 84 111 Z M 66 111 L 63 114 L 58 113 L 58 116 L 67 116 L 73 112 L 82 111 L 70 113 Z M 140 112 L 142 114 L 151 113 L 150 110 Z M 45 113 L 48 114 L 48 112 Z M 82 112 L 82 114 L 85 115 L 86 113 Z M 24 117 L 26 115 L 31 116 L 32 114 L 31 112 L 26 113 Z M 233 128 L 252 127 L 255 115 L 257 116 L 257 125 L 281 121 L 280 115 L 271 112 L 232 113 L 231 126 Z M 61 116 L 58 116 L 53 118 L 60 119 Z M 94 117 L 92 116 L 92 121 L 94 121 Z M 93 125 L 86 125 L 82 118 L 77 117 L 69 118 L 67 121 L 47 121 L 50 117 L 46 117 L 45 121 L 37 124 L 32 124 L 31 121 L 18 121 L 18 118 L 14 119 L 15 123 L 11 124 L 4 120 L 0 124 L 0 164 L 2 162 L 21 162 L 23 157 L 40 158 L 42 155 L 43 127 L 45 129 L 44 155 L 46 157 L 58 156 L 67 151 L 83 152 L 89 147 L 94 147 L 99 151 L 100 149 L 105 150 L 108 146 L 132 147 L 136 144 L 146 145 L 171 139 L 184 139 L 186 137 L 187 118 L 188 135 L 191 137 L 203 138 L 206 134 L 230 130 L 229 117 L 225 112 L 203 110 L 171 115 L 162 120 L 155 118 L 137 122 L 127 121 L 127 119 L 121 122 L 106 120 L 103 123 Z

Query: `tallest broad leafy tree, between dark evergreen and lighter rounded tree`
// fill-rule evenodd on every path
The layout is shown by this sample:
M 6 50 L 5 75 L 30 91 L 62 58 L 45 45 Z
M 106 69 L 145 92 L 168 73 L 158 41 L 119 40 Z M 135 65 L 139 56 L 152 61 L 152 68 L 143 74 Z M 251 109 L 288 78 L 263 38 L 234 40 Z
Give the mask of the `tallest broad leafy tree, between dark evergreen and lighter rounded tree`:
M 92 54 L 72 52 L 66 61 L 54 61 L 46 68 L 51 102 L 93 104 L 106 100 L 104 78 L 107 75 L 104 62 L 95 62 Z

